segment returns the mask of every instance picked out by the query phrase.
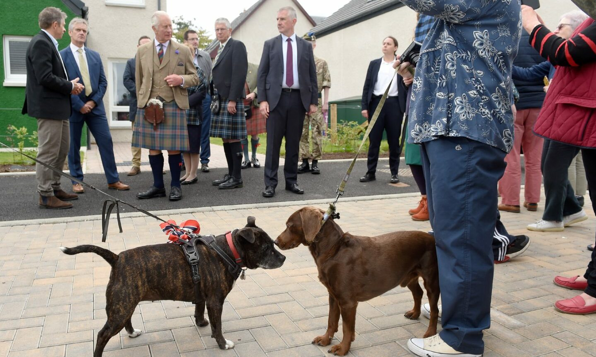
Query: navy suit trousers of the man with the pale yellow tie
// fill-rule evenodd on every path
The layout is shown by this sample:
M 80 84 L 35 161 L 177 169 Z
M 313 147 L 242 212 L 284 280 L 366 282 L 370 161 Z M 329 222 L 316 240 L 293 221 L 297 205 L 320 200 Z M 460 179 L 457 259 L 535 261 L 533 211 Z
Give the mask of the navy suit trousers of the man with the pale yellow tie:
M 114 159 L 114 143 L 111 139 L 110 127 L 105 115 L 85 114 L 81 121 L 70 121 L 70 149 L 69 170 L 70 176 L 83 180 L 83 168 L 80 165 L 80 136 L 83 124 L 87 123 L 89 130 L 95 137 L 97 147 L 100 149 L 101 164 L 104 167 L 105 179 L 108 183 L 120 181 Z M 73 181 L 73 184 L 76 182 Z

